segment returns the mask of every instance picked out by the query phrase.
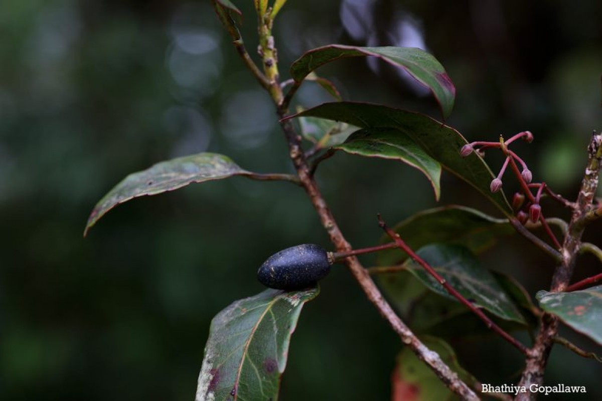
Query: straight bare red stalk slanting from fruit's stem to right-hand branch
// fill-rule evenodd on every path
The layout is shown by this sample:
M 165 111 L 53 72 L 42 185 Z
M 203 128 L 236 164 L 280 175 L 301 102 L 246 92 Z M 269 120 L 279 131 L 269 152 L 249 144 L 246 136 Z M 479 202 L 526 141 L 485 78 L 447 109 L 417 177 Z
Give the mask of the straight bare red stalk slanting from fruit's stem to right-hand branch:
M 441 284 L 441 286 L 443 286 L 450 295 L 452 295 L 454 298 L 458 299 L 458 301 L 460 301 L 461 304 L 464 304 L 468 309 L 470 309 L 474 314 L 476 314 L 481 320 L 483 320 L 483 322 L 485 322 L 485 325 L 487 325 L 488 328 L 492 329 L 498 335 L 500 335 L 500 337 L 504 338 L 504 340 L 508 341 L 513 346 L 517 347 L 517 349 L 520 350 L 520 352 L 522 352 L 525 355 L 527 354 L 527 347 L 525 347 L 523 344 L 521 344 L 516 338 L 512 337 L 510 334 L 505 332 L 500 326 L 496 325 L 491 319 L 489 319 L 489 317 L 485 313 L 483 313 L 482 310 L 475 307 L 473 302 L 468 301 L 468 299 L 464 298 L 464 296 L 461 293 L 459 293 L 454 287 L 450 286 L 450 284 L 447 283 L 447 281 L 445 281 L 445 279 L 443 277 L 441 277 L 441 275 L 439 275 L 435 271 L 435 269 L 433 269 L 432 266 L 429 265 L 429 263 L 427 263 L 424 259 L 422 259 L 420 256 L 418 256 L 414 252 L 414 250 L 412 250 L 412 248 L 410 248 L 401 239 L 399 234 L 396 234 L 395 231 L 393 231 L 393 230 L 391 230 L 391 228 L 387 227 L 387 225 L 385 224 L 383 219 L 380 217 L 380 215 L 378 216 L 378 219 L 379 219 L 380 227 L 383 229 L 383 231 L 385 231 L 385 233 L 389 237 L 391 237 L 391 239 L 394 240 L 394 242 L 397 244 L 397 246 L 399 248 L 403 249 L 403 251 L 405 251 L 405 253 L 408 254 L 408 256 L 412 258 L 412 260 L 414 260 L 414 262 L 416 262 L 416 263 L 418 263 L 418 265 L 422 266 L 424 268 L 424 270 L 426 270 L 433 278 L 435 278 L 435 280 L 437 280 L 438 283 Z

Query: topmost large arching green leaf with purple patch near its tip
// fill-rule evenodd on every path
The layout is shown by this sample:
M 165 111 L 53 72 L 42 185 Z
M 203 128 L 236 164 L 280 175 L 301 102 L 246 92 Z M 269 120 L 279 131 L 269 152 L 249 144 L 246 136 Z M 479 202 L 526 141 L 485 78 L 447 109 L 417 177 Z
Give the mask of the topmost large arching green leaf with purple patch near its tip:
M 303 54 L 291 66 L 291 75 L 299 82 L 310 72 L 330 61 L 358 56 L 377 57 L 406 70 L 433 92 L 444 117 L 448 117 L 452 112 L 456 97 L 456 88 L 452 80 L 435 57 L 415 47 L 358 47 L 329 44 Z

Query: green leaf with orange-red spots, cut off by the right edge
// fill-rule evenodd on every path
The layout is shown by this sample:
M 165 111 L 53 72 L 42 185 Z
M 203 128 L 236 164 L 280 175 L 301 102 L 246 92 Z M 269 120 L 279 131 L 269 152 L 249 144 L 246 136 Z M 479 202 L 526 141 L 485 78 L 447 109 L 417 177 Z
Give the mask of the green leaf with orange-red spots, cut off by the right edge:
M 602 286 L 573 292 L 539 291 L 539 306 L 602 344 Z

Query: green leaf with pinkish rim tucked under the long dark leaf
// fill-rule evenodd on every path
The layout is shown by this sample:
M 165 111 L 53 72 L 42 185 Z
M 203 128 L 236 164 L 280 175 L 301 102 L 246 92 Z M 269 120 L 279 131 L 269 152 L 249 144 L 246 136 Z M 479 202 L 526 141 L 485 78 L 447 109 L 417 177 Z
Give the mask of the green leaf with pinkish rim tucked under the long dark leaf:
M 352 133 L 335 147 L 353 155 L 399 160 L 420 170 L 429 179 L 439 200 L 441 165 L 414 142 L 405 132 L 394 128 L 366 128 Z

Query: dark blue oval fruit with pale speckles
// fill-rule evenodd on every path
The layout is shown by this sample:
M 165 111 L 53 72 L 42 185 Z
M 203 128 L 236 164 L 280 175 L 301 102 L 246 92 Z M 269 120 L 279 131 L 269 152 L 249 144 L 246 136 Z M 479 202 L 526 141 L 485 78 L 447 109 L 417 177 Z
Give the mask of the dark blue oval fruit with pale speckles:
M 257 278 L 266 287 L 291 291 L 315 286 L 329 272 L 326 251 L 304 243 L 270 256 L 259 268 Z

